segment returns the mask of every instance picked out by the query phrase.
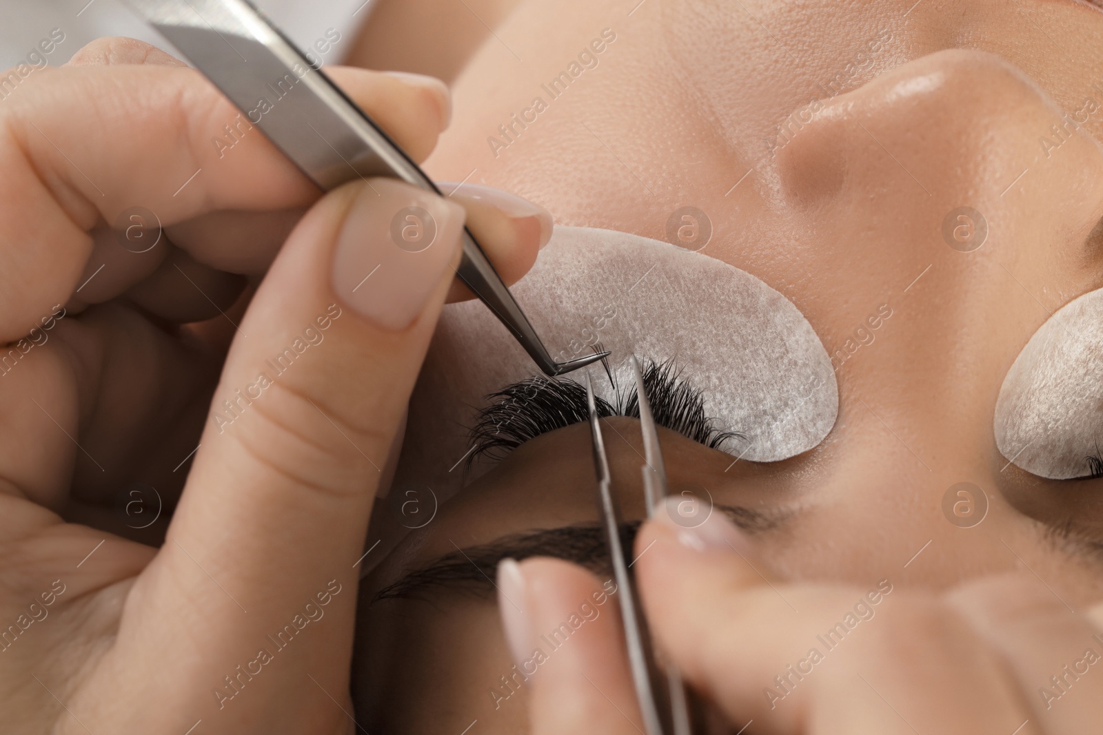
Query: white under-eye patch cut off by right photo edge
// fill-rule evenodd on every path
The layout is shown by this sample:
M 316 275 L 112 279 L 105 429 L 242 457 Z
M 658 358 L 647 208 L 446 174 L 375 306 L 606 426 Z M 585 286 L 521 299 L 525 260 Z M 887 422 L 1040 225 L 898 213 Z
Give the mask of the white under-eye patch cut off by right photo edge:
M 1030 337 L 999 389 L 1005 458 L 1039 477 L 1091 474 L 1103 448 L 1103 289 L 1062 306 Z

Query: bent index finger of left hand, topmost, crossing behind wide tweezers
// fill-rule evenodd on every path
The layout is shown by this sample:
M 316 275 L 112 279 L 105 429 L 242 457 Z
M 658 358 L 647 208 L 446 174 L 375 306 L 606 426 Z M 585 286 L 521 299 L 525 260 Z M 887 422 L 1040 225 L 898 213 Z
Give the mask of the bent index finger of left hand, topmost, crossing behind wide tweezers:
M 439 87 L 376 72 L 330 73 L 411 155 L 432 149 L 447 118 Z M 7 244 L 0 250 L 0 339 L 21 336 L 51 304 L 65 303 L 81 285 L 88 233 L 129 223 L 136 207 L 156 228 L 217 210 L 302 207 L 318 197 L 193 69 L 62 67 L 28 85 L 28 94 L 0 109 L 0 241 Z M 202 233 L 194 237 L 176 245 L 202 241 Z M 268 250 L 279 241 L 268 242 Z M 49 247 L 33 246 L 39 242 Z M 221 268 L 214 256 L 205 264 Z M 115 291 L 129 285 L 120 281 Z

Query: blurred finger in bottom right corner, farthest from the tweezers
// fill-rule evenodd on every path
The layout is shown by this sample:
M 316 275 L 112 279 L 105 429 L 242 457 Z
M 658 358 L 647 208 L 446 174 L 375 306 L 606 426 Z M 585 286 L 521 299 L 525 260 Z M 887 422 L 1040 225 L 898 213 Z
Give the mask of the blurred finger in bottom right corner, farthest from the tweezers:
M 1000 651 L 1049 735 L 1085 733 L 1103 717 L 1103 627 L 1037 577 L 1007 575 L 954 591 L 950 604 Z

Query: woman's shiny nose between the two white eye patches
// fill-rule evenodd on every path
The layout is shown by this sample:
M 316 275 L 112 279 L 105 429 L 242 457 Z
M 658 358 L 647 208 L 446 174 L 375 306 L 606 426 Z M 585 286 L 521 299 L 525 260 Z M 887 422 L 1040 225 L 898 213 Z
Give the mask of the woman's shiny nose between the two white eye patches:
M 945 51 L 823 102 L 777 152 L 808 233 L 794 257 L 826 294 L 806 314 L 846 325 L 821 333 L 839 419 L 816 495 L 835 500 L 806 522 L 854 548 L 863 579 L 950 584 L 1029 563 L 1027 549 L 1049 563 L 1037 525 L 1000 494 L 993 414 L 1030 335 L 1103 285 L 1103 147 L 1082 130 L 1103 95 L 1084 91 L 1062 109 L 999 57 Z M 987 506 L 978 526 L 954 515 L 955 487 Z M 847 542 L 856 533 L 884 558 Z M 904 568 L 927 542 L 942 553 Z M 807 569 L 826 559 L 791 562 L 831 574 Z

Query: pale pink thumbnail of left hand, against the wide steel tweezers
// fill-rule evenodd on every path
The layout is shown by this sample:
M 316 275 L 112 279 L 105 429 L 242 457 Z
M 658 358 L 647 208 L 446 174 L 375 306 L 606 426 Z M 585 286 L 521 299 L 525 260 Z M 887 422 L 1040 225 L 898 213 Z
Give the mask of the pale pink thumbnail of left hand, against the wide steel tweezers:
M 453 267 L 463 207 L 393 179 L 361 187 L 338 236 L 333 288 L 353 311 L 404 329 Z

